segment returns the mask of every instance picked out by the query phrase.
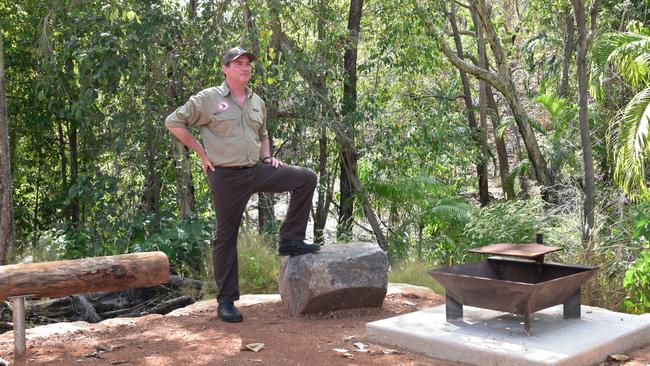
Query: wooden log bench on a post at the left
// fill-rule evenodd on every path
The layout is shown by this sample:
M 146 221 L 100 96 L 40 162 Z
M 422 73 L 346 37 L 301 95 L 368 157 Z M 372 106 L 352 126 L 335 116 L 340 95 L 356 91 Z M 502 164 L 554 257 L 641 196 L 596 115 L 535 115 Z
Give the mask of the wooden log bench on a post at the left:
M 163 252 L 0 266 L 0 301 L 11 298 L 14 359 L 25 356 L 25 296 L 63 297 L 153 287 L 169 282 Z

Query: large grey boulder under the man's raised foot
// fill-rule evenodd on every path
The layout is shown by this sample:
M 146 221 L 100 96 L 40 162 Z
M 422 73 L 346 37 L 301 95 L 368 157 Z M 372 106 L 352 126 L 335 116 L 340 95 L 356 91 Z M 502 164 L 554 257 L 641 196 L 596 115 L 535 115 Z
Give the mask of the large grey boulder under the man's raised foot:
M 280 269 L 280 296 L 293 314 L 379 307 L 387 287 L 388 259 L 373 243 L 325 245 Z

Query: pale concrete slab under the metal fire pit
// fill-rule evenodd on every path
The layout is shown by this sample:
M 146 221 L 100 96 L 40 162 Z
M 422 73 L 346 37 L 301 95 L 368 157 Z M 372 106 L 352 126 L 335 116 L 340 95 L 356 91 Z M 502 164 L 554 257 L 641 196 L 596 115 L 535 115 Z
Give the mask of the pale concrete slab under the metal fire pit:
M 523 317 L 464 306 L 447 322 L 445 305 L 368 323 L 370 341 L 472 365 L 594 365 L 608 355 L 650 343 L 650 314 L 582 306 L 582 319 L 563 319 L 562 306 Z

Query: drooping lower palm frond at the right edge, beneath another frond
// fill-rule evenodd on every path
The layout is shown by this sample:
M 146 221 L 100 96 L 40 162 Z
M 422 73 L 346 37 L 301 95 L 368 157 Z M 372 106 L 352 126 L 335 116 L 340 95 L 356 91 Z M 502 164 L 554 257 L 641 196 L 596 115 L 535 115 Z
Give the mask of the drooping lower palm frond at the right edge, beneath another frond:
M 650 156 L 650 86 L 614 118 L 608 142 L 614 153 L 614 180 L 631 198 L 647 197 L 645 162 Z

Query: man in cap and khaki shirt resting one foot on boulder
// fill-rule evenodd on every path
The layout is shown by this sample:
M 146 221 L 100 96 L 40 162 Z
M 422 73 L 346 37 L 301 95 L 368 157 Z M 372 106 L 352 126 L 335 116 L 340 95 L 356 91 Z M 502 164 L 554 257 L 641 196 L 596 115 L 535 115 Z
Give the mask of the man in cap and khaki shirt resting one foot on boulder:
M 234 306 L 239 299 L 237 234 L 246 203 L 257 192 L 291 191 L 287 217 L 280 228 L 280 255 L 320 250 L 304 242 L 316 174 L 285 165 L 271 156 L 266 130 L 266 106 L 247 84 L 256 57 L 241 47 L 223 55 L 225 82 L 193 95 L 165 120 L 165 126 L 201 158 L 217 216 L 212 241 L 214 276 L 219 287 L 217 314 L 226 322 L 241 322 Z M 188 128 L 198 128 L 203 146 Z

